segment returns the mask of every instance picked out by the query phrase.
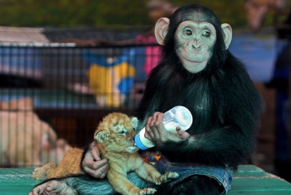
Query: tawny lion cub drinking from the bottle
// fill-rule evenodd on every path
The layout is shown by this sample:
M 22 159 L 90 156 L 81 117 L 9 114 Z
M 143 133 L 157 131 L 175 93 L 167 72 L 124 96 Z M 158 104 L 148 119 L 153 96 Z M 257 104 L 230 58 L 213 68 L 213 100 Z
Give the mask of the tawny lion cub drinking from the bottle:
M 139 189 L 131 183 L 127 179 L 127 173 L 130 171 L 135 171 L 139 177 L 157 185 L 178 177 L 178 173 L 175 172 L 161 175 L 138 154 L 139 149 L 133 140 L 137 124 L 136 117 L 129 118 L 126 114 L 113 112 L 103 118 L 94 133 L 100 157 L 109 159 L 110 169 L 106 175 L 108 181 L 114 190 L 122 195 L 150 195 L 156 192 L 154 188 Z M 32 177 L 44 179 L 43 177 L 65 176 L 71 173 L 71 167 L 76 167 L 73 173 L 81 173 L 79 165 L 82 150 L 73 148 L 67 153 L 58 167 L 49 162 L 51 164 L 36 168 Z

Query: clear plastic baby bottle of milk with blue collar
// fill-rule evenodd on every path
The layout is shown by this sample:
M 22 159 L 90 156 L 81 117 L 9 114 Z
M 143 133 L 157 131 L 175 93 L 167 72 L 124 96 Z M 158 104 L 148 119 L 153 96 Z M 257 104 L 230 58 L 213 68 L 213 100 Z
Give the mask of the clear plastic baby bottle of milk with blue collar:
M 175 106 L 163 114 L 163 124 L 170 133 L 177 134 L 176 127 L 179 126 L 186 131 L 192 125 L 193 118 L 191 112 L 184 106 Z M 146 127 L 135 136 L 135 144 L 141 150 L 154 147 L 154 143 L 145 138 Z

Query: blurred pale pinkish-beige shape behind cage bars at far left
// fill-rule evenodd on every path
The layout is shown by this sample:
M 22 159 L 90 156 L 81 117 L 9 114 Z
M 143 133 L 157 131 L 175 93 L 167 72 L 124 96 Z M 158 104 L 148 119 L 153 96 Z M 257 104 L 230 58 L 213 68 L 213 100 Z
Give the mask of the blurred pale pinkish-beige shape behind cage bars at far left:
M 0 102 L 0 166 L 32 167 L 63 158 L 70 146 L 33 112 L 31 98 Z

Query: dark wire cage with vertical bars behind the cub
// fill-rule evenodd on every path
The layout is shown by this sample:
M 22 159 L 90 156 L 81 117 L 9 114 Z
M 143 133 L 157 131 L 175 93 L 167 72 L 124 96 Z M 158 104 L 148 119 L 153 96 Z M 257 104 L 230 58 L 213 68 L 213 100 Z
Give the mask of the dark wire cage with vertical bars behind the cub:
M 157 45 L 0 44 L 0 166 L 58 163 L 109 112 L 134 114 Z

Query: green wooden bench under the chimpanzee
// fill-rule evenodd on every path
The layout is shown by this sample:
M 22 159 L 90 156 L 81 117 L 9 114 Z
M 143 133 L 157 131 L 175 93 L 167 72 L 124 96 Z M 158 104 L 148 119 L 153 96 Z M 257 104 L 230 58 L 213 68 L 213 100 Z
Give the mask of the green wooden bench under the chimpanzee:
M 32 179 L 33 168 L 1 168 L 0 195 L 28 195 L 39 181 Z M 241 165 L 233 174 L 228 195 L 291 195 L 291 183 L 266 173 L 254 165 Z

